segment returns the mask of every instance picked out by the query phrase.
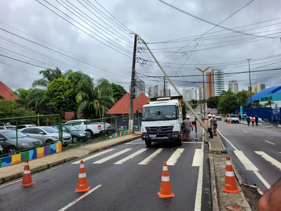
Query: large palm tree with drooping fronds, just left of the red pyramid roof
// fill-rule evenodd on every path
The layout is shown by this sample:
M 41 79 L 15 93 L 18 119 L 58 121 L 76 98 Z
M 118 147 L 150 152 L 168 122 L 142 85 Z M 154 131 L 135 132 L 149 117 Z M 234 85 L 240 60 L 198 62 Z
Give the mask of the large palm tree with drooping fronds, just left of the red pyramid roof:
M 73 75 L 73 78 L 78 81 L 78 113 L 82 112 L 87 118 L 97 118 L 99 107 L 103 107 L 104 112 L 107 112 L 114 105 L 113 91 L 106 79 L 102 78 L 94 83 L 89 75 L 81 72 Z

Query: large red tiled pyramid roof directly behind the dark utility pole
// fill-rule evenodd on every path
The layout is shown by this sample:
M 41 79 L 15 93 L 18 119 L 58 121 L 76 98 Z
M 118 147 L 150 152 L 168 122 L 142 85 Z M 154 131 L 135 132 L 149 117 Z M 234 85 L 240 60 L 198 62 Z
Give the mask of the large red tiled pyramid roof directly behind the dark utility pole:
M 139 109 L 139 113 L 141 113 L 142 105 L 134 99 L 134 114 L 137 113 L 137 109 Z M 130 93 L 127 92 L 109 111 L 107 114 L 129 114 L 130 113 Z

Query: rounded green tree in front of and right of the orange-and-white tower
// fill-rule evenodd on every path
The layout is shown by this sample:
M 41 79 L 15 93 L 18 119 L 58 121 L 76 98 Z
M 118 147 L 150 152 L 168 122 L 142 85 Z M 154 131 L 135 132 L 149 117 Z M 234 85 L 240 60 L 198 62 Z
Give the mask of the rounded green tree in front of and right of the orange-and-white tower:
M 220 96 L 218 107 L 224 114 L 228 114 L 231 110 L 238 108 L 237 95 L 230 90 L 226 91 Z

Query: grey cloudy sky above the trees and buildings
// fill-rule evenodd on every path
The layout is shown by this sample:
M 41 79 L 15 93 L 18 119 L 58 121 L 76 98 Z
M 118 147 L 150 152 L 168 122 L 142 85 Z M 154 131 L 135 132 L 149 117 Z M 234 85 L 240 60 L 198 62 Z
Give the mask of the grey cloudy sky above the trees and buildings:
M 165 2 L 218 24 L 250 1 Z M 224 77 L 225 89 L 229 80 L 247 89 L 249 75 L 240 73 L 248 71 L 247 59 L 251 71 L 281 67 L 280 8 L 280 1 L 255 0 L 212 29 L 211 23 L 158 0 L 1 0 L 0 80 L 13 90 L 28 89 L 40 70 L 59 67 L 105 77 L 129 91 L 130 29 L 148 43 L 168 75 L 185 76 L 173 77 L 180 90 L 202 82 L 195 67 L 222 69 L 231 73 Z M 145 81 L 146 89 L 163 86 L 163 78 L 157 78 L 163 73 L 139 40 L 137 58 L 137 79 Z M 251 83 L 257 82 L 281 85 L 280 70 L 251 73 Z

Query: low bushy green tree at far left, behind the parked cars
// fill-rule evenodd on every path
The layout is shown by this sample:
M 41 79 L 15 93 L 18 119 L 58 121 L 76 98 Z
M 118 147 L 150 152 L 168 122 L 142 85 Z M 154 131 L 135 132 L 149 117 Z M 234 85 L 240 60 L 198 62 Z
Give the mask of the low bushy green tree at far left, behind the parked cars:
M 26 108 L 19 108 L 15 103 L 15 100 L 0 100 L 0 119 L 2 118 L 15 118 L 24 116 L 36 116 L 34 111 Z M 32 119 L 21 119 L 19 124 L 28 124 Z M 14 124 L 15 120 L 8 121 Z M 34 121 L 32 121 L 34 122 Z M 35 120 L 36 122 L 36 120 Z M 34 123 L 33 123 L 34 124 Z

